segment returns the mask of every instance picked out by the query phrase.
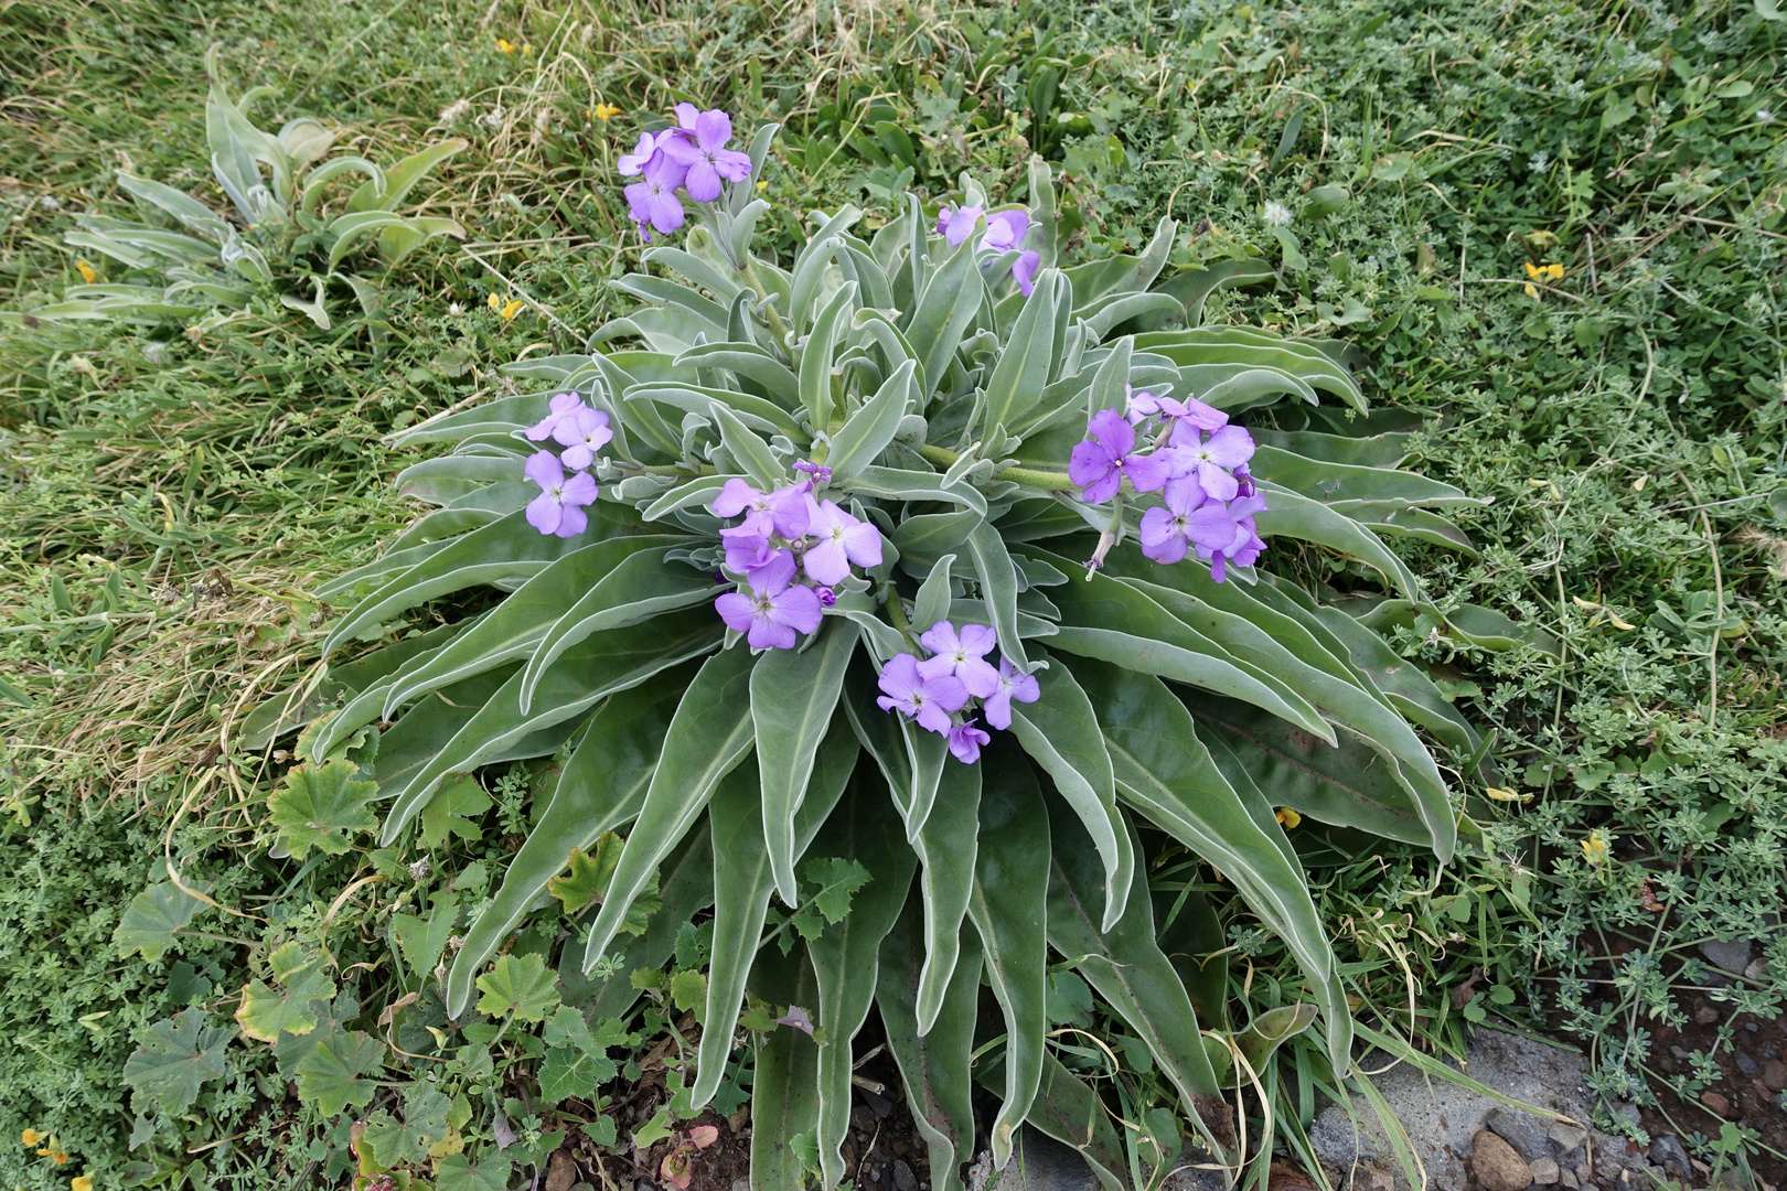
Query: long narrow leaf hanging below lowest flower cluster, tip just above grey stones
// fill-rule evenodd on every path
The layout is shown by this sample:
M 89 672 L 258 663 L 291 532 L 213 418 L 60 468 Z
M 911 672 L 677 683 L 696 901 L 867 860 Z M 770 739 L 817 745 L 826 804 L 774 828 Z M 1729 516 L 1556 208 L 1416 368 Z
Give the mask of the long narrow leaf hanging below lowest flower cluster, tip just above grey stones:
M 1047 1012 L 1049 809 L 1022 759 L 1004 750 L 990 761 L 981 789 L 979 854 L 969 918 L 981 932 L 986 982 L 1006 1020 L 1006 1079 L 992 1123 L 994 1166 L 1011 1161 L 1011 1139 L 1029 1114 L 1042 1079 Z

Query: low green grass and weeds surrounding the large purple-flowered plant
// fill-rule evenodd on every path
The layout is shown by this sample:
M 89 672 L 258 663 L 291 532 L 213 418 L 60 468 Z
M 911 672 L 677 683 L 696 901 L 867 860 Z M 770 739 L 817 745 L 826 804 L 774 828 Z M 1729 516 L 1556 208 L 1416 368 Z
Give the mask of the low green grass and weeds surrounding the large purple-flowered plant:
M 61 236 L 89 204 L 123 211 L 107 189 L 118 150 L 136 173 L 204 193 L 204 173 L 182 170 L 204 159 L 191 112 L 218 37 L 234 77 L 293 80 L 281 118 L 350 123 L 365 157 L 470 139 L 429 209 L 472 241 L 465 255 L 431 245 L 406 262 L 415 280 L 386 295 L 386 343 L 357 320 L 320 334 L 295 314 L 197 341 L 177 325 L 5 339 L 0 516 L 16 632 L 4 639 L 0 850 L 5 871 L 32 877 L 4 900 L 5 1064 L 21 1075 L 0 1091 L 0 1121 L 9 1134 L 54 1130 L 71 1155 L 54 1166 L 7 1150 L 7 1180 L 120 1177 L 134 1161 L 163 1182 L 261 1186 L 320 1177 L 343 1152 L 275 1096 L 266 1043 L 225 1046 L 227 1073 L 159 1123 L 147 1096 L 138 1107 L 155 1132 L 136 1152 L 118 1071 L 157 1037 L 147 1030 L 177 1030 L 189 1005 L 202 1029 L 234 1029 L 254 980 L 289 993 L 282 980 L 320 977 L 334 989 L 313 1000 L 340 1009 L 348 980 L 336 973 L 368 962 L 354 977 L 359 1004 L 400 998 L 422 979 L 406 968 L 406 932 L 425 943 L 445 904 L 457 912 L 486 896 L 525 832 L 538 773 L 516 768 L 484 777 L 490 809 L 457 816 L 475 837 L 445 827 L 422 879 L 411 859 L 377 850 L 247 866 L 270 841 L 266 795 L 286 759 L 243 754 L 241 716 L 315 661 L 340 614 L 316 595 L 322 579 L 372 557 L 413 516 L 386 480 L 415 455 L 379 436 L 506 393 L 490 364 L 574 350 L 627 305 L 606 289 L 631 257 L 625 204 L 604 179 L 633 127 L 613 132 L 597 104 L 622 107 L 620 125 L 683 98 L 786 125 L 784 168 L 765 195 L 788 212 L 765 225 L 779 250 L 793 245 L 795 212 L 815 205 L 856 202 L 890 220 L 906 187 L 960 202 L 949 191 L 963 168 L 1004 193 L 1035 148 L 1061 177 L 1074 259 L 1135 252 L 1170 214 L 1183 229 L 1169 271 L 1260 254 L 1283 279 L 1215 295 L 1206 323 L 1351 337 L 1372 404 L 1428 420 L 1408 466 L 1494 498 L 1458 514 L 1476 557 L 1392 543 L 1428 600 L 1481 604 L 1558 643 L 1489 654 L 1442 620 L 1374 614 L 1469 720 L 1498 730 L 1499 777 L 1464 787 L 1489 848 L 1446 870 L 1288 832 L 1362 1025 L 1440 1050 L 1476 1020 L 1573 1029 L 1596 1048 L 1610 1100 L 1685 1093 L 1658 1104 L 1698 1157 L 1767 1161 L 1749 1121 L 1683 1114 L 1728 1066 L 1728 1036 L 1692 1064 L 1651 1036 L 1710 987 L 1696 945 L 1764 937 L 1782 900 L 1783 100 L 1771 5 L 1101 5 L 876 20 L 742 7 L 720 29 L 679 11 L 481 18 L 304 7 L 200 27 L 180 9 L 9 9 L 25 34 L 0 50 L 13 55 L 5 118 L 23 129 L 0 162 L 11 309 L 79 284 Z M 375 82 L 391 86 L 368 91 Z M 1378 591 L 1324 552 L 1285 562 L 1331 598 Z M 204 896 L 266 921 L 182 902 L 163 855 L 193 891 L 211 882 Z M 329 918 L 363 877 L 384 880 Z M 102 943 L 154 887 L 145 912 L 195 916 L 159 957 L 120 959 Z M 1294 964 L 1231 886 L 1181 857 L 1156 868 L 1153 887 L 1169 902 L 1181 889 L 1210 896 L 1235 989 L 1247 989 L 1233 1012 L 1290 1000 L 1279 986 Z M 397 920 L 424 925 L 393 934 Z M 340 970 L 281 970 L 277 946 L 239 939 L 341 945 Z M 658 1020 L 629 1025 L 640 1050 L 681 1016 L 677 979 L 686 989 L 684 973 L 704 970 L 702 941 L 683 943 L 661 1000 L 645 996 Z M 1726 1018 L 1778 1012 L 1780 946 L 1760 954 L 1760 975 L 1712 993 Z M 1633 948 L 1644 961 L 1615 968 Z M 1095 998 L 1065 980 L 1058 993 L 1056 1029 L 1115 1037 Z M 511 1005 L 499 1016 L 540 1009 Z M 583 1039 L 558 1045 L 579 1052 Z M 1158 1071 L 1067 1046 L 1079 1043 L 1063 1043 L 1063 1061 L 1106 1071 L 1106 1095 L 1131 1120 L 1172 1104 Z M 1294 1125 L 1319 1107 L 1299 1079 L 1303 1046 L 1292 1039 L 1265 1073 L 1292 1152 Z M 599 1048 L 622 1077 L 640 1054 L 591 1034 L 579 1052 L 590 1079 Z M 432 1132 L 445 1143 L 436 1116 L 474 1148 L 488 1139 L 450 1102 L 386 1095 L 373 1109 L 395 1130 L 381 1134 L 386 1146 Z M 1258 1123 L 1258 1100 L 1242 1107 Z M 404 1139 L 411 1109 L 418 1127 Z M 524 1129 L 524 1111 L 509 1120 L 524 1155 L 558 1129 L 545 1118 Z M 674 1127 L 665 1114 L 659 1129 Z M 289 1155 L 304 1157 L 257 1166 Z

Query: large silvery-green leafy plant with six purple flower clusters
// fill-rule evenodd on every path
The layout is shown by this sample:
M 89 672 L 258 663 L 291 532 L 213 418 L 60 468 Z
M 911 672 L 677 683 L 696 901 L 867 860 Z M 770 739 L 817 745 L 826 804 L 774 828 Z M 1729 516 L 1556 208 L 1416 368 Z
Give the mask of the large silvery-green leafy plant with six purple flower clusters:
M 749 1025 L 758 1187 L 802 1186 L 801 1134 L 824 1186 L 845 1175 L 851 1039 L 872 1005 L 938 1187 L 972 1157 L 972 1079 L 1003 1102 L 995 1162 L 1029 1120 L 1124 1166 L 1097 1093 L 1051 1052 L 1051 962 L 1133 1029 L 1221 1150 L 1199 1107 L 1246 1082 L 1242 1055 L 1317 1016 L 1331 1073 L 1351 1045 L 1274 811 L 1455 846 L 1426 739 L 1460 768 L 1478 739 L 1372 625 L 1419 600 L 1381 536 L 1469 548 L 1431 512 L 1464 495 L 1394 470 L 1406 427 L 1367 416 L 1333 346 L 1196 327 L 1212 287 L 1269 271 L 1156 287 L 1165 220 L 1137 257 L 1061 268 L 1040 161 L 1026 209 L 990 211 L 965 180 L 940 218 L 910 198 L 868 236 L 852 207 L 813 212 L 792 261 L 756 255 L 772 134 L 736 154 L 724 114 L 688 109 L 643 137 L 624 166 L 642 230 L 674 230 L 684 202 L 695 220 L 617 282 L 640 309 L 588 355 L 509 368 L 541 391 L 404 436 L 457 443 L 400 477 L 440 507 L 334 582 L 357 605 L 329 650 L 493 595 L 331 675 L 307 754 L 390 721 L 386 843 L 450 775 L 561 754 L 424 996 L 463 1014 L 524 920 L 561 912 L 540 909 L 549 882 L 625 832 L 600 900 L 559 932 L 559 970 L 588 987 L 608 961 L 624 989 L 674 934 L 622 934 L 643 895 L 663 898 L 654 921 L 711 905 L 692 1104 Z M 1347 555 L 1385 595 L 1342 611 L 1254 570 L 1287 546 Z M 1465 612 L 1449 630 L 1490 639 L 1489 614 Z M 1163 954 L 1145 873 L 1167 850 L 1204 857 L 1285 939 L 1301 1007 L 1231 1023 L 1222 961 Z M 786 918 L 840 871 L 863 879 L 847 914 L 827 896 Z M 1178 914 L 1179 937 L 1222 946 L 1201 902 Z M 806 1014 L 817 1037 L 772 1025 Z

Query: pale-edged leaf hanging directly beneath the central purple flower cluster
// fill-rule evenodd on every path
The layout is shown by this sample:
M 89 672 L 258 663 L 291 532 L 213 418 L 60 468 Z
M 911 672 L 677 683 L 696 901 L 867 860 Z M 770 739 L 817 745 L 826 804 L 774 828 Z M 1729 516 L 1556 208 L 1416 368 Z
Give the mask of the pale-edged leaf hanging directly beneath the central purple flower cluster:
M 813 775 L 813 755 L 831 727 L 858 629 L 829 618 L 806 650 L 767 650 L 751 671 L 751 718 L 763 779 L 763 832 L 776 891 L 790 907 L 795 886 L 795 814 Z

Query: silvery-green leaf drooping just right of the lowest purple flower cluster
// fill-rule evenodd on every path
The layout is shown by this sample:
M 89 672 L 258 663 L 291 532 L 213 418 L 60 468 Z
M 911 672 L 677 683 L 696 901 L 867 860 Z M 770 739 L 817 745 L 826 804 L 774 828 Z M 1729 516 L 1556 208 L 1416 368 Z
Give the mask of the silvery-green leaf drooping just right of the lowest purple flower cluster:
M 1069 668 L 1049 661 L 1051 666 L 1036 673 L 1042 698 L 1035 704 L 1011 704 L 1011 734 L 1054 779 L 1054 787 L 1085 825 L 1104 868 L 1099 921 L 1103 930 L 1110 930 L 1122 918 L 1129 898 L 1135 850 L 1117 811 L 1112 759 L 1104 752 L 1097 714 Z

